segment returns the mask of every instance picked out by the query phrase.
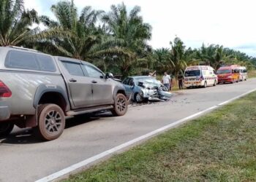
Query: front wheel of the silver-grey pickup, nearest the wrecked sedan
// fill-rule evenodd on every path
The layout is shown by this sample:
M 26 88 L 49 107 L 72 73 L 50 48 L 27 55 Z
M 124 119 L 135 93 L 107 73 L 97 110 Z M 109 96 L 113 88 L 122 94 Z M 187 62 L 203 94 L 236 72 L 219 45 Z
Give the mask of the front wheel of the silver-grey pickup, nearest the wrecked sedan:
M 116 100 L 114 104 L 114 109 L 112 110 L 112 114 L 114 116 L 124 116 L 127 113 L 128 109 L 128 100 L 124 94 L 118 93 L 116 95 Z

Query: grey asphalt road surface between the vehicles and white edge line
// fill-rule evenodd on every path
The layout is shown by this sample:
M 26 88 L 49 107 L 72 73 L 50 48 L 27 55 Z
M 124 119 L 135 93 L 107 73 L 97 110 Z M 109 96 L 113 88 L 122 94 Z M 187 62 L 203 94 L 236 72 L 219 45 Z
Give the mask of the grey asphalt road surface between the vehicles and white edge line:
M 35 181 L 89 157 L 256 88 L 256 79 L 178 91 L 168 102 L 132 106 L 125 116 L 69 119 L 56 141 L 39 142 L 30 130 L 0 139 L 0 181 Z

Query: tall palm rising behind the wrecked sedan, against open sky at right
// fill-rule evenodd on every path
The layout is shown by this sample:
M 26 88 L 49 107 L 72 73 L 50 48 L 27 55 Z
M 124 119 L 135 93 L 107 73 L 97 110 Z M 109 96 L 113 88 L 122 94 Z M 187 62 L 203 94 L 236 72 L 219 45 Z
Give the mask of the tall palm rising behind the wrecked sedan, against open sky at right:
M 121 74 L 127 76 L 138 63 L 146 61 L 151 47 L 147 41 L 151 39 L 151 26 L 143 23 L 143 17 L 138 15 L 140 7 L 134 7 L 127 12 L 122 4 L 112 5 L 111 11 L 102 17 L 109 35 L 113 38 L 116 47 L 120 47 L 125 54 L 115 58 Z

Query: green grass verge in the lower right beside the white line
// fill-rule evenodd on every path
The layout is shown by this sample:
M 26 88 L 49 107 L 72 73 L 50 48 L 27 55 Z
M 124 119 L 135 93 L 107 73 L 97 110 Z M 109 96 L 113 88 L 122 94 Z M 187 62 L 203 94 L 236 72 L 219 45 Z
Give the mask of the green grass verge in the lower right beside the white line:
M 67 181 L 256 181 L 256 92 Z

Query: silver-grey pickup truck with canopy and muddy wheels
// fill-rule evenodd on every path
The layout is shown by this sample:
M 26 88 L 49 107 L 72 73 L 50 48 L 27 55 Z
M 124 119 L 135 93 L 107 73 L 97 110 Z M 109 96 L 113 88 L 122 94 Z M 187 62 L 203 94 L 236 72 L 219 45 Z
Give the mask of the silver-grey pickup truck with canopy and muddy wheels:
M 59 138 L 67 116 L 110 110 L 126 114 L 124 86 L 82 60 L 22 47 L 0 47 L 0 137 L 14 125 L 45 141 Z

